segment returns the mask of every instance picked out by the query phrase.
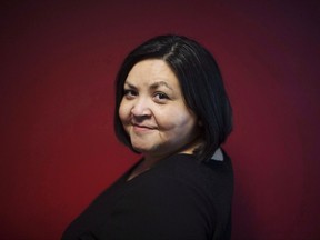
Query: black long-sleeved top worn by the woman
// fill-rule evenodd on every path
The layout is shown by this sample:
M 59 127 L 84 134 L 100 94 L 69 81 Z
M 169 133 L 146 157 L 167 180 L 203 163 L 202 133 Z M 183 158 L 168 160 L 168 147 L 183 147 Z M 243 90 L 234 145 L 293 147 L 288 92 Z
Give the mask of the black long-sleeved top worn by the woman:
M 199 163 L 191 154 L 174 154 L 127 181 L 133 168 L 69 226 L 62 240 L 230 239 L 228 156 Z

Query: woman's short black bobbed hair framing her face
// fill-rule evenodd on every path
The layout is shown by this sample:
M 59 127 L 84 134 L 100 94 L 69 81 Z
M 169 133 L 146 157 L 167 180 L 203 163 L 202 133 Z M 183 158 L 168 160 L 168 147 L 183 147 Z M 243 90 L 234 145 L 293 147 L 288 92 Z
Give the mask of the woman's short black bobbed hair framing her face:
M 132 149 L 119 118 L 119 107 L 130 70 L 146 59 L 164 60 L 176 73 L 186 104 L 202 124 L 204 143 L 198 158 L 200 161 L 210 159 L 232 131 L 232 109 L 214 58 L 200 43 L 183 36 L 158 36 L 133 49 L 124 59 L 116 79 L 114 130 L 118 139 Z

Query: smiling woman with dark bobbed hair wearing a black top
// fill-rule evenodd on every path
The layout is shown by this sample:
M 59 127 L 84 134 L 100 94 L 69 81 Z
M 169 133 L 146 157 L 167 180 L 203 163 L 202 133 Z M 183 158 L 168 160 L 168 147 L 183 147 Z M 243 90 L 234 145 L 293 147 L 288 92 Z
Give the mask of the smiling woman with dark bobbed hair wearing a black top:
M 62 239 L 230 239 L 232 113 L 213 57 L 181 36 L 136 48 L 117 76 L 114 128 L 141 160 Z

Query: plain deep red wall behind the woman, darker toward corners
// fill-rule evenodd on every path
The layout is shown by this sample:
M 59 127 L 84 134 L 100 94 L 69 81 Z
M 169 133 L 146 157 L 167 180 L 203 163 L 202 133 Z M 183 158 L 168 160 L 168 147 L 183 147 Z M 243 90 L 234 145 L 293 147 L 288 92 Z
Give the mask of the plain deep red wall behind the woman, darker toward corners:
M 320 239 L 320 6 L 259 2 L 2 1 L 0 239 L 59 239 L 138 159 L 113 136 L 113 79 L 172 32 L 216 56 L 233 103 L 232 239 Z

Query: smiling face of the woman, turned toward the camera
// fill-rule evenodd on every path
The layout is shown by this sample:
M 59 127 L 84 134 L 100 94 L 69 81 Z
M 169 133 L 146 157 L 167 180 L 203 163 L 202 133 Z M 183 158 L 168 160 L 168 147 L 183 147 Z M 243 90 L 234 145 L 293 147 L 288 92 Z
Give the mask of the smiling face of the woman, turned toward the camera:
M 137 151 L 156 159 L 192 152 L 199 136 L 198 120 L 187 108 L 179 81 L 163 60 L 138 62 L 123 89 L 119 117 Z

